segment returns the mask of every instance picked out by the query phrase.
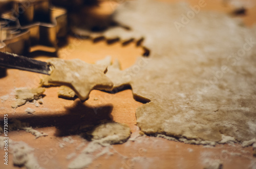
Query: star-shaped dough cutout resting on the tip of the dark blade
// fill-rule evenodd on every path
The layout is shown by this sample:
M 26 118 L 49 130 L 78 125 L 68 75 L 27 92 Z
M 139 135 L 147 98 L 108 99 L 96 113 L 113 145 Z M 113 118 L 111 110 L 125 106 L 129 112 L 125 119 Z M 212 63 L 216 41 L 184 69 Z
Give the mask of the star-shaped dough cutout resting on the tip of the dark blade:
M 52 58 L 48 60 L 52 71 L 50 83 L 70 87 L 82 101 L 89 98 L 93 89 L 112 90 L 113 82 L 106 77 L 108 71 L 105 65 L 93 65 L 79 59 L 62 60 Z

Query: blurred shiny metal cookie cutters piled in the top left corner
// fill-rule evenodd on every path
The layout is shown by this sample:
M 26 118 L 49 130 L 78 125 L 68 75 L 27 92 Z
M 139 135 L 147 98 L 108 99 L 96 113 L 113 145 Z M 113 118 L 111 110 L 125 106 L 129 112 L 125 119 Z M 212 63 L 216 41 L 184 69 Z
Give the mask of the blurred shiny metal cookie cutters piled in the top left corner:
M 0 51 L 16 54 L 36 50 L 57 51 L 57 38 L 67 34 L 65 9 L 50 8 L 49 0 L 6 2 L 11 9 L 1 15 Z

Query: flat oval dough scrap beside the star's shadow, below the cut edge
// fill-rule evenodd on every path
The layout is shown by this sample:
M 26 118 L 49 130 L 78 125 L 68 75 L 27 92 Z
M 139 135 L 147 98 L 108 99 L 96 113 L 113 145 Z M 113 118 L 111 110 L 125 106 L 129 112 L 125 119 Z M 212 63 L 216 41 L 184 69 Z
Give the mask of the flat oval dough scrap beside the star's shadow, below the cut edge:
M 108 122 L 100 124 L 91 132 L 94 140 L 102 144 L 122 144 L 131 136 L 131 129 L 126 124 Z

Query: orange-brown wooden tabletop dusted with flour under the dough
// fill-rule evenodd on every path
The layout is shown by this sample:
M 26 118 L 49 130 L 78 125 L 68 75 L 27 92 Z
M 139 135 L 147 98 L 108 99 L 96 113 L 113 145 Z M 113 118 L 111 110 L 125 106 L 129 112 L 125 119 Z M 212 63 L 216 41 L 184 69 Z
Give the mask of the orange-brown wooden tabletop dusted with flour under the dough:
M 188 2 L 196 5 L 199 1 Z M 205 1 L 205 3 L 206 6 L 202 10 L 231 12 L 234 9 L 232 6 L 224 5 L 222 1 Z M 113 2 L 104 3 L 104 8 L 115 6 Z M 256 21 L 255 16 L 256 7 L 251 6 L 245 16 L 238 17 L 251 26 Z M 108 45 L 104 41 L 93 43 L 91 40 L 69 36 L 67 45 L 62 46 L 57 54 L 62 59 L 78 58 L 88 63 L 94 63 L 106 55 L 111 55 L 113 59 L 118 58 L 122 69 L 125 69 L 132 66 L 142 52 L 143 49 L 136 47 L 135 43 L 127 46 L 122 46 L 120 43 Z M 44 52 L 30 54 L 30 57 L 41 61 L 46 61 L 53 56 L 54 54 L 49 55 Z M 82 150 L 76 150 L 78 145 L 84 143 L 83 147 L 86 147 L 89 143 L 74 131 L 81 125 L 95 124 L 100 120 L 113 120 L 129 125 L 133 132 L 132 137 L 138 135 L 135 111 L 142 103 L 133 99 L 130 89 L 116 94 L 94 90 L 90 94 L 90 99 L 81 103 L 79 99 L 73 101 L 58 98 L 58 87 L 53 87 L 46 89 L 44 104 L 39 107 L 26 104 L 16 109 L 11 108 L 14 89 L 37 87 L 40 77 L 41 75 L 37 73 L 9 69 L 7 75 L 0 78 L 0 96 L 9 95 L 6 101 L 0 101 L 0 119 L 4 119 L 4 114 L 8 114 L 9 120 L 16 118 L 29 122 L 32 127 L 42 126 L 36 130 L 45 132 L 48 136 L 37 139 L 24 130 L 9 132 L 10 139 L 23 141 L 34 148 L 34 155 L 41 167 L 67 168 L 74 159 L 66 159 L 67 155 L 74 152 L 78 155 Z M 36 110 L 34 115 L 25 112 L 28 107 Z M 67 136 L 71 136 L 74 142 L 68 143 L 62 140 Z M 60 148 L 59 143 L 65 143 L 65 146 Z M 237 144 L 208 148 L 164 138 L 141 136 L 134 142 L 128 141 L 112 147 L 113 155 L 103 155 L 94 159 L 88 168 L 203 168 L 207 160 L 211 162 L 220 160 L 223 168 L 256 168 L 256 158 L 252 156 L 252 148 L 242 148 Z M 9 156 L 9 165 L 4 165 L 3 154 L 4 150 L 0 150 L 0 168 L 16 168 L 12 165 L 12 155 Z

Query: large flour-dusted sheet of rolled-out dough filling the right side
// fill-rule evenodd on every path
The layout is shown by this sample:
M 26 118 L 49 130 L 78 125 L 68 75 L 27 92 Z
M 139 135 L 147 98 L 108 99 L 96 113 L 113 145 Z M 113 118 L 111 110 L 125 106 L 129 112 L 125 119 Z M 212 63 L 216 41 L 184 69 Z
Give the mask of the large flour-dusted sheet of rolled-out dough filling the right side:
M 151 50 L 146 66 L 119 76 L 131 78 L 134 97 L 148 101 L 136 110 L 137 124 L 146 134 L 250 140 L 256 136 L 256 26 L 207 11 L 184 25 L 188 11 L 184 3 L 151 0 L 115 11 L 114 20 L 139 32 Z

